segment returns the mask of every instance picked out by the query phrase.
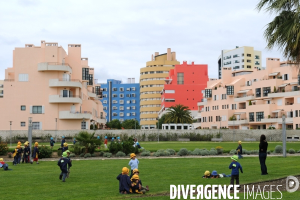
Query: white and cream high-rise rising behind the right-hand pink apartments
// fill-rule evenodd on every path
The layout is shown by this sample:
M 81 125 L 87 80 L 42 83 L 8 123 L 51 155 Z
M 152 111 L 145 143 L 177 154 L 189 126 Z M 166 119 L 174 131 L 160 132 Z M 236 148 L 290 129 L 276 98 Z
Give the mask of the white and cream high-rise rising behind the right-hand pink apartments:
M 231 68 L 233 76 L 247 74 L 261 68 L 261 51 L 251 46 L 236 46 L 231 50 L 221 50 L 217 60 L 218 79 L 222 77 L 222 67 Z

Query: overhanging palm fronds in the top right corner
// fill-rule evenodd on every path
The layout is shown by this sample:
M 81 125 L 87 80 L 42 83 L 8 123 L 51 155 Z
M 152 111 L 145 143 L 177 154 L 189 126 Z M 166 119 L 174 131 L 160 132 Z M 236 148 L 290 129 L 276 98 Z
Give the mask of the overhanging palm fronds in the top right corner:
M 265 8 L 264 8 L 265 7 Z M 267 49 L 277 46 L 283 57 L 299 69 L 300 64 L 300 3 L 299 0 L 260 0 L 256 9 L 264 8 L 274 19 L 266 25 L 264 38 Z

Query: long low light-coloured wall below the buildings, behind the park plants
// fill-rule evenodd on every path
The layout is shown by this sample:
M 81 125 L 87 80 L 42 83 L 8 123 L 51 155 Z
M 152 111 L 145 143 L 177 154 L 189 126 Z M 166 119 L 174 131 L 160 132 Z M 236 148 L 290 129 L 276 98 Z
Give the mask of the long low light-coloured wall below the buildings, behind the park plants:
M 76 133 L 80 130 L 57 130 L 56 135 L 57 138 L 61 138 L 62 135 L 72 138 Z M 94 130 L 87 130 L 88 132 L 93 132 Z M 95 135 L 107 135 L 107 136 L 134 136 L 134 132 L 139 141 L 148 141 L 148 140 L 157 140 L 157 133 L 159 133 L 159 140 L 177 140 L 178 137 L 181 138 L 192 138 L 192 140 L 210 140 L 210 138 L 217 138 L 221 133 L 221 137 L 224 141 L 233 141 L 233 137 L 235 141 L 241 140 L 244 138 L 255 138 L 256 141 L 259 141 L 260 135 L 264 134 L 268 141 L 280 141 L 282 140 L 282 130 L 235 130 L 233 134 L 233 130 L 224 129 L 199 129 L 199 130 L 157 130 L 157 129 L 149 129 L 149 130 L 95 130 Z M 27 130 L 11 130 L 11 137 L 27 137 Z M 234 136 L 233 136 L 234 135 Z M 299 130 L 286 130 L 287 137 L 299 136 Z M 8 141 L 10 138 L 9 130 L 0 130 L 0 136 L 2 140 Z M 55 130 L 32 130 L 32 136 L 34 137 L 42 137 L 49 138 L 50 136 L 55 136 Z

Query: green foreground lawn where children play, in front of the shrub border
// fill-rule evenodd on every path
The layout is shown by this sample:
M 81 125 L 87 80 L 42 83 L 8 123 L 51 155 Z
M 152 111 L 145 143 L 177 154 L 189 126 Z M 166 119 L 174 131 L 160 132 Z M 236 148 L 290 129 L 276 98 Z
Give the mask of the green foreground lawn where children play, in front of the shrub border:
M 138 157 L 137 157 L 138 158 Z M 229 158 L 138 158 L 140 178 L 150 191 L 143 199 L 169 199 L 170 184 L 229 184 L 229 178 L 201 178 L 205 170 L 217 170 L 230 174 Z M 269 175 L 260 175 L 257 157 L 240 160 L 244 173 L 240 174 L 240 184 L 298 175 L 298 156 L 286 158 L 267 157 Z M 119 199 L 141 196 L 118 193 L 116 176 L 123 166 L 128 167 L 129 159 L 73 160 L 70 178 L 66 182 L 58 179 L 60 170 L 57 161 L 39 161 L 40 164 L 19 164 L 0 169 L 0 196 L 5 199 Z M 167 196 L 149 196 L 167 193 Z M 243 196 L 242 194 L 239 194 Z M 289 197 L 290 198 L 289 198 Z M 280 197 L 277 192 L 272 197 Z M 182 198 L 182 197 L 181 197 Z M 300 192 L 283 193 L 282 199 L 299 199 Z M 242 199 L 242 198 L 241 198 Z

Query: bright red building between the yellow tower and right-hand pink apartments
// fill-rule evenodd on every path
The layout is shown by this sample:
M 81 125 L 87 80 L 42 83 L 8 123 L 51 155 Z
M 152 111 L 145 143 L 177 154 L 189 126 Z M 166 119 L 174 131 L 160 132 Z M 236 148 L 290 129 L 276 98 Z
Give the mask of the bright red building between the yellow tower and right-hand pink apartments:
M 159 115 L 171 105 L 183 104 L 192 110 L 192 115 L 197 115 L 197 101 L 203 98 L 203 93 L 208 81 L 207 64 L 176 64 L 169 70 L 161 91 L 161 110 Z

